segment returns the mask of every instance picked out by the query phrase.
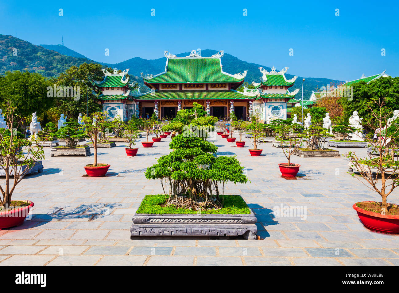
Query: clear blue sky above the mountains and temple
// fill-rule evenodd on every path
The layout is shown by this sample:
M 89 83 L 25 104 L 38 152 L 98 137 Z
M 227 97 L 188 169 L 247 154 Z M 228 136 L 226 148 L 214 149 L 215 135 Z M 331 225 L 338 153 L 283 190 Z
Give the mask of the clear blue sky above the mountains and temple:
M 399 75 L 398 8 L 394 1 L 0 0 L 0 33 L 18 31 L 36 45 L 59 44 L 63 35 L 65 46 L 107 63 L 216 49 L 288 66 L 295 75 L 345 81 L 385 69 Z

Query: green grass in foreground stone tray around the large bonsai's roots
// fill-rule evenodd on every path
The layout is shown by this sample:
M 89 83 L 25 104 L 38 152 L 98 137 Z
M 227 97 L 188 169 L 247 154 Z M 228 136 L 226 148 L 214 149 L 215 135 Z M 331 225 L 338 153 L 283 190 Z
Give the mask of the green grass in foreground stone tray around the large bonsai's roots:
M 166 203 L 168 195 L 146 195 L 138 207 L 137 214 L 197 214 L 197 210 L 161 206 Z M 203 210 L 201 214 L 250 214 L 251 210 L 238 195 L 225 195 L 224 205 L 220 209 Z

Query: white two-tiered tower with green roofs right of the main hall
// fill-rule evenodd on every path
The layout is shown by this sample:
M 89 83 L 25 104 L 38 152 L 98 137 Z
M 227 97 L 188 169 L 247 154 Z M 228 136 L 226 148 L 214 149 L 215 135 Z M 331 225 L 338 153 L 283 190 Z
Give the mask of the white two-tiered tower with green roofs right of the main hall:
M 259 67 L 259 71 L 262 73 L 261 82 L 252 82 L 252 85 L 259 90 L 260 96 L 255 98 L 252 106 L 253 114 L 257 115 L 260 120 L 286 119 L 287 114 L 290 115 L 291 103 L 297 102 L 295 94 L 298 93 L 299 88 L 292 92 L 288 90 L 294 85 L 297 77 L 286 79 L 284 74 L 287 69 L 288 67 L 284 67 L 284 69 L 276 71 L 273 66 L 269 72 Z

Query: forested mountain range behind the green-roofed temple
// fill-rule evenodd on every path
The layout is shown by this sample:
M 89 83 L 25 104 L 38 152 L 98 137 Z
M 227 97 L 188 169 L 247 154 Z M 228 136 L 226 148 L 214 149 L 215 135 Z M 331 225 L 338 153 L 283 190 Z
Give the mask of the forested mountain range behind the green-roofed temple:
M 15 55 L 16 49 L 16 55 Z M 217 53 L 215 50 L 202 50 L 201 55 L 209 57 Z M 189 52 L 180 53 L 178 57 L 185 57 L 189 55 Z M 259 65 L 255 63 L 249 63 L 242 61 L 237 57 L 225 53 L 222 57 L 223 71 L 231 74 L 243 73 L 245 70 L 248 71 L 245 81 L 251 83 L 252 81 L 259 82 L 261 73 L 258 67 L 263 67 L 270 71 L 270 67 Z M 69 67 L 75 65 L 79 66 L 84 62 L 95 62 L 87 57 L 63 46 L 63 45 L 33 45 L 28 41 L 18 39 L 11 35 L 0 34 L 0 74 L 5 71 L 13 70 L 28 70 L 30 72 L 41 73 L 45 77 L 55 77 L 59 73 L 64 72 Z M 100 63 L 100 62 L 98 62 Z M 137 81 L 141 86 L 141 92 L 148 91 L 148 88 L 144 85 L 141 73 L 158 74 L 165 71 L 166 57 L 158 59 L 142 59 L 140 57 L 134 57 L 126 61 L 109 64 L 100 63 L 108 67 L 117 67 L 118 69 L 130 68 L 129 75 L 131 81 Z M 291 79 L 293 75 L 286 74 L 287 79 Z M 298 76 L 296 83 L 292 90 L 295 88 L 302 88 L 302 78 Z M 308 99 L 312 90 L 320 88 L 322 85 L 328 85 L 330 83 L 339 84 L 341 81 L 326 79 L 326 78 L 313 78 L 306 77 L 304 83 L 304 99 Z M 296 97 L 300 97 L 301 91 L 296 94 Z

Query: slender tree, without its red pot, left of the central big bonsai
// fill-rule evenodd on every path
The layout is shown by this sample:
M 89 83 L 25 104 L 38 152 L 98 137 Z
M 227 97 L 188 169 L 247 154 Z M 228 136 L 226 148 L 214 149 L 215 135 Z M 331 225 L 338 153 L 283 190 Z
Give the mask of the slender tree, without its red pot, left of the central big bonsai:
M 91 113 L 89 117 L 83 116 L 82 120 L 85 122 L 85 137 L 90 138 L 91 142 L 93 143 L 94 163 L 91 165 L 91 167 L 97 167 L 97 165 L 99 165 L 97 163 L 97 139 L 99 134 L 103 133 L 105 126 L 107 125 L 105 114 L 102 112 L 94 112 Z

